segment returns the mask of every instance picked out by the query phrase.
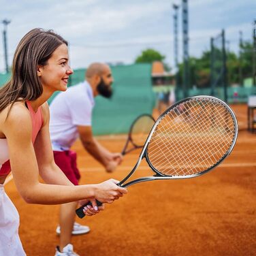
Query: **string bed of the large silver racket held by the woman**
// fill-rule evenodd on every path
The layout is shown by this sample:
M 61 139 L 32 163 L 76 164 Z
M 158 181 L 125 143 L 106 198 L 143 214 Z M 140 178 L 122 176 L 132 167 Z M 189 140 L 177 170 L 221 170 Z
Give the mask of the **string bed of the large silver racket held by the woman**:
M 189 175 L 220 161 L 234 140 L 229 110 L 211 99 L 189 100 L 172 108 L 148 144 L 150 163 L 164 175 Z

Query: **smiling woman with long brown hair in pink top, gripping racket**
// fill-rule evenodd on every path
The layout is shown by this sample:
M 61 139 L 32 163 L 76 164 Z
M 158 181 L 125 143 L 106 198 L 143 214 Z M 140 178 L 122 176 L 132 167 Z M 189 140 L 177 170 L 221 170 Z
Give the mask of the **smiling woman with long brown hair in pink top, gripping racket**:
M 67 42 L 52 31 L 33 29 L 18 44 L 12 78 L 0 89 L 0 255 L 25 255 L 18 237 L 18 212 L 3 182 L 12 170 L 18 192 L 29 204 L 63 204 L 83 200 L 103 210 L 98 199 L 112 203 L 127 193 L 118 180 L 74 186 L 54 163 L 46 101 L 54 91 L 65 91 L 73 70 L 68 65 Z M 46 184 L 40 183 L 38 175 Z M 49 185 L 50 184 L 50 185 Z

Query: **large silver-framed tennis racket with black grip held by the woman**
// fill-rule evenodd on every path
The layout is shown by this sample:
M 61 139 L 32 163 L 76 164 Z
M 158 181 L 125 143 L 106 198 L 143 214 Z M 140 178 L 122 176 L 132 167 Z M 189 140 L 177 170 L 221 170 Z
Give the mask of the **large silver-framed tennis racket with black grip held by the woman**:
M 221 99 L 204 95 L 183 99 L 159 116 L 138 162 L 118 185 L 129 187 L 149 180 L 206 174 L 231 153 L 237 136 L 236 116 Z M 127 182 L 142 159 L 146 159 L 155 175 Z M 76 210 L 80 218 L 84 217 L 83 208 Z

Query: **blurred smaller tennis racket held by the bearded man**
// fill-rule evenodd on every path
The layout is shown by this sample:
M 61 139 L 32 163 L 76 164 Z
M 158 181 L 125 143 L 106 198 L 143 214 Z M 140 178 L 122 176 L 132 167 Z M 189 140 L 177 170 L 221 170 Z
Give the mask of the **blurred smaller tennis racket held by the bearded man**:
M 155 119 L 150 114 L 138 116 L 131 124 L 128 138 L 121 154 L 125 155 L 137 148 L 142 148 L 154 124 Z

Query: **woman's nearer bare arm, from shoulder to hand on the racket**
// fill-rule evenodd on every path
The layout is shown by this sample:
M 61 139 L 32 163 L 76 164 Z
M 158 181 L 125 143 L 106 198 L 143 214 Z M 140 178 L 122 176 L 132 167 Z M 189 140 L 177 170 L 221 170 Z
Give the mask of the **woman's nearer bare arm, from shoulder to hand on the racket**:
M 31 117 L 24 104 L 14 104 L 2 130 L 7 138 L 14 182 L 18 192 L 26 202 L 34 204 L 63 204 L 80 199 L 97 198 L 103 203 L 109 203 L 113 202 L 115 197 L 126 193 L 125 189 L 116 186 L 115 180 L 102 182 L 99 185 L 82 186 L 46 185 L 40 183 L 38 180 L 37 158 L 31 142 Z M 42 153 L 43 155 L 45 154 L 43 148 Z M 42 161 L 42 159 L 39 161 Z M 64 180 L 65 178 L 63 178 L 63 182 Z

